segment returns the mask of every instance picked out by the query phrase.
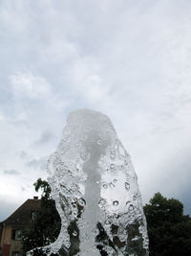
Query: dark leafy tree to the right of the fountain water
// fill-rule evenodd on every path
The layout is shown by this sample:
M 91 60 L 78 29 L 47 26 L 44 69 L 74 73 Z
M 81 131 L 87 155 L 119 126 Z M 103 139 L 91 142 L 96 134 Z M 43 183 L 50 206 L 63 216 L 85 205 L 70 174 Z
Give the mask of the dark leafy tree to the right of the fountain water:
M 191 219 L 183 216 L 182 203 L 157 193 L 144 206 L 150 256 L 190 256 Z

